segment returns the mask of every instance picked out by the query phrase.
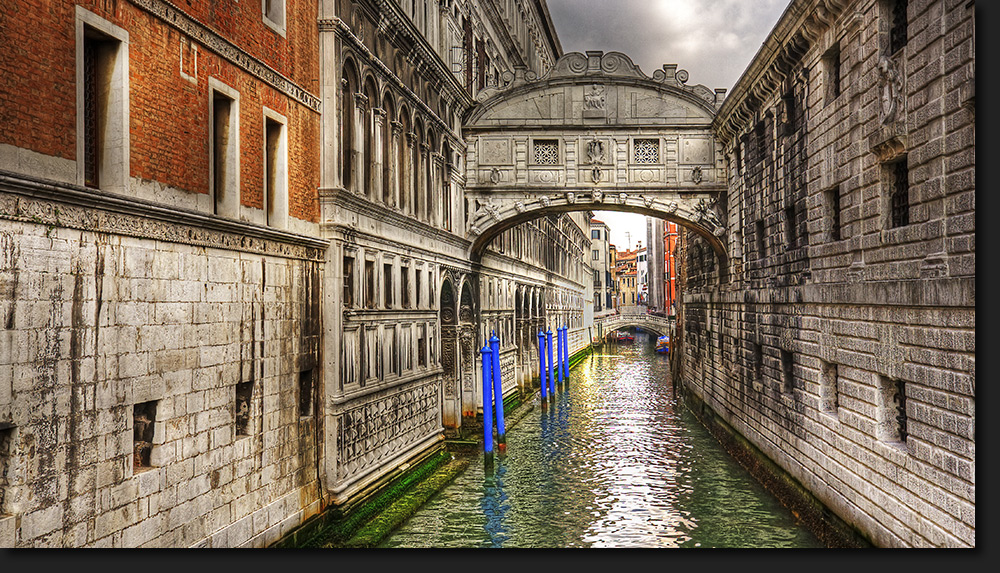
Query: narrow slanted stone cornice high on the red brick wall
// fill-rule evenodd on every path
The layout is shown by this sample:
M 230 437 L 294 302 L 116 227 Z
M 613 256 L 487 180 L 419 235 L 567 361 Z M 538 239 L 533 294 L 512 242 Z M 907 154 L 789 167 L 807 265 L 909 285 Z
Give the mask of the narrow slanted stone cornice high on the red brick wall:
M 208 26 L 188 16 L 166 0 L 130 0 L 139 8 L 156 16 L 200 44 L 219 54 L 243 71 L 269 84 L 274 89 L 319 113 L 322 109 L 319 96 L 309 93 L 264 62 L 251 56 Z

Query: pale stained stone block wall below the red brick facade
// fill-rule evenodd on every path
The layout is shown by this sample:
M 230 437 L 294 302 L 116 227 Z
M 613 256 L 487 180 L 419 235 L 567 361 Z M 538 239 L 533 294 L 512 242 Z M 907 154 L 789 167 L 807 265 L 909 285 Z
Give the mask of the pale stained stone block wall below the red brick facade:
M 263 546 L 319 510 L 315 255 L 5 215 L 0 546 Z

